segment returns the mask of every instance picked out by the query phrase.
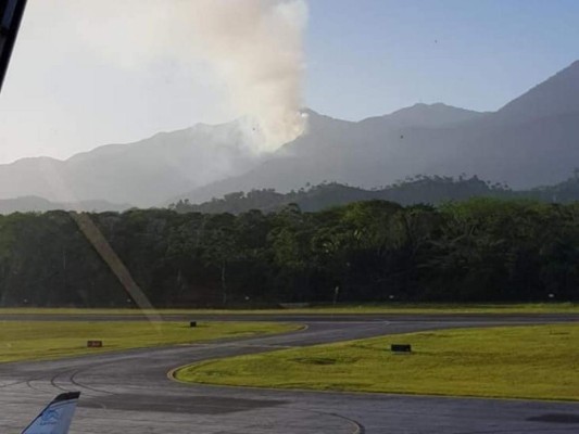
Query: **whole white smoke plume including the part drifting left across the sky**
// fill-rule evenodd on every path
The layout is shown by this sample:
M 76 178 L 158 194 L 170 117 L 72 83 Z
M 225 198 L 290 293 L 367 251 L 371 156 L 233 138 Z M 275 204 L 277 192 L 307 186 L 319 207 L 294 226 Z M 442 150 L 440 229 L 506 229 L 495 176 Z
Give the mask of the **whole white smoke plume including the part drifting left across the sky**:
M 306 0 L 53 1 L 90 10 L 93 22 L 78 23 L 79 36 L 125 67 L 206 62 L 225 82 L 232 112 L 251 119 L 259 151 L 304 131 Z

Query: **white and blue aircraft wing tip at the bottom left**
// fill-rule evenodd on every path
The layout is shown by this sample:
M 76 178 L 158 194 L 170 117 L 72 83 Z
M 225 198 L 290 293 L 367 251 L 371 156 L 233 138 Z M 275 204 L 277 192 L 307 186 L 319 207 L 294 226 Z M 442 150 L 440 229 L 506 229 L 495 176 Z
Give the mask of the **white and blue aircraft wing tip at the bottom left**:
M 80 392 L 56 396 L 22 434 L 66 434 L 71 427 Z

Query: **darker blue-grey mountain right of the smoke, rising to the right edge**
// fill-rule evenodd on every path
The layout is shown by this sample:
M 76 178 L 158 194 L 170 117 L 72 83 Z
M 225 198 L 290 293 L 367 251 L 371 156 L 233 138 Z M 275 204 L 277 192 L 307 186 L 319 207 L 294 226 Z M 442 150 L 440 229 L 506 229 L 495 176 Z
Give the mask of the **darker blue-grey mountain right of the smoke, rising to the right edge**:
M 305 135 L 247 174 L 171 202 L 324 181 L 372 188 L 414 175 L 477 175 L 514 189 L 561 182 L 579 167 L 579 62 L 496 112 L 417 104 L 358 123 L 310 111 L 309 123 Z

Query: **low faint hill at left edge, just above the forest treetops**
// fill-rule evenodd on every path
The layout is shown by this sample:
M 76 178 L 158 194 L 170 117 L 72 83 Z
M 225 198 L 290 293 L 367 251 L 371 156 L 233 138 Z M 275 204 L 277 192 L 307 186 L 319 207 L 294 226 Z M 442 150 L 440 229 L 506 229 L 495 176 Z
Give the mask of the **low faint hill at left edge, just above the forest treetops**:
M 96 212 L 96 213 L 104 212 L 104 210 L 123 212 L 130 207 L 131 205 L 129 204 L 113 204 L 106 201 L 83 201 L 83 202 L 77 202 L 77 203 L 58 203 L 58 202 L 50 202 L 43 197 L 38 197 L 38 196 L 0 199 L 0 214 L 12 214 L 16 212 L 43 213 L 43 212 L 53 210 L 53 209 L 86 210 L 86 212 Z

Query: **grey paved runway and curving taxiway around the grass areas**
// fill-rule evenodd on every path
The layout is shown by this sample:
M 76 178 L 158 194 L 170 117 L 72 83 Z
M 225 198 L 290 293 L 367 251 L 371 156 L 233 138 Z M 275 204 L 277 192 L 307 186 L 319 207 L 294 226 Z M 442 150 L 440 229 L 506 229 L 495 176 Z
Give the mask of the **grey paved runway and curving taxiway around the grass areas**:
M 87 316 L 78 319 L 86 320 Z M 72 433 L 579 432 L 579 404 L 574 403 L 197 386 L 166 376 L 180 365 L 240 354 L 419 330 L 577 321 L 578 316 L 286 315 L 242 319 L 299 321 L 309 328 L 276 336 L 0 365 L 0 432 L 20 432 L 46 401 L 62 391 L 83 393 Z

